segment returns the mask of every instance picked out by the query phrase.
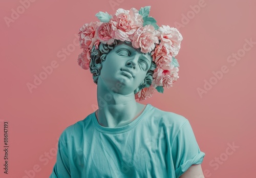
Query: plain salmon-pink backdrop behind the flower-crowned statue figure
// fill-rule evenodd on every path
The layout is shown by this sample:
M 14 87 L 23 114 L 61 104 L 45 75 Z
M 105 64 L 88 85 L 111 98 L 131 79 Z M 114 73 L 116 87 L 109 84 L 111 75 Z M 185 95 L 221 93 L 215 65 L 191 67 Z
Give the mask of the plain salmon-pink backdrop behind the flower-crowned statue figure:
M 158 25 L 182 25 L 178 29 L 183 41 L 177 56 L 180 78 L 164 94 L 143 103 L 190 121 L 206 153 L 205 177 L 254 176 L 256 45 L 245 44 L 246 39 L 256 41 L 254 1 L 21 2 L 28 1 L 1 1 L 0 5 L 0 177 L 49 177 L 63 129 L 95 111 L 96 85 L 90 72 L 77 64 L 79 28 L 97 20 L 98 11 L 114 14 L 118 8 L 148 5 Z M 193 12 L 191 7 L 199 5 L 200 10 Z M 7 18 L 12 21 L 6 23 Z M 67 48 L 67 54 L 61 51 Z M 241 59 L 229 57 L 232 53 L 239 53 Z M 52 63 L 52 73 L 43 76 L 42 67 Z M 214 75 L 217 71 L 219 79 Z M 33 84 L 34 75 L 46 79 L 30 92 L 27 83 Z M 211 88 L 204 86 L 206 82 Z M 201 97 L 198 88 L 205 90 Z M 9 123 L 8 175 L 3 173 L 5 121 Z M 229 149 L 228 143 L 237 148 Z

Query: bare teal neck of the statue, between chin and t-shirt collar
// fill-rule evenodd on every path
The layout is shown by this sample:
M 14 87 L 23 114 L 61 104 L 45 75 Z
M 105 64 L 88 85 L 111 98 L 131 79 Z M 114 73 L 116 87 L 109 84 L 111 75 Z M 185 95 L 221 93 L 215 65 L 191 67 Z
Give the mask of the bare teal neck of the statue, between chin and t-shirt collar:
M 116 93 L 102 81 L 97 84 L 97 101 L 99 109 L 96 116 L 99 124 L 104 127 L 113 128 L 129 124 L 142 113 L 144 107 L 135 101 L 134 93 Z

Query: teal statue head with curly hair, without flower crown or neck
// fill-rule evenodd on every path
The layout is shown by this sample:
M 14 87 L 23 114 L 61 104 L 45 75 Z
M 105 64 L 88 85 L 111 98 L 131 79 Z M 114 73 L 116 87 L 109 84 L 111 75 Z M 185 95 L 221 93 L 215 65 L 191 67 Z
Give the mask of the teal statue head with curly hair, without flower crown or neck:
M 149 87 L 155 69 L 151 55 L 133 48 L 131 42 L 115 40 L 112 44 L 100 43 L 98 49 L 95 46 L 92 49 L 90 71 L 94 83 L 100 80 L 122 95 L 136 94 Z

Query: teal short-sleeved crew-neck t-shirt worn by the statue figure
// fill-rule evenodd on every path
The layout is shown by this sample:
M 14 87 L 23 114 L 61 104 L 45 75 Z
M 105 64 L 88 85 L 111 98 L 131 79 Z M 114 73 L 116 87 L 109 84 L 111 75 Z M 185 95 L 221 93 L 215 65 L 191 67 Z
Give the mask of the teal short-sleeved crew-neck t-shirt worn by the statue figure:
M 122 127 L 101 126 L 95 112 L 68 126 L 59 137 L 50 178 L 174 178 L 204 156 L 185 117 L 147 104 Z

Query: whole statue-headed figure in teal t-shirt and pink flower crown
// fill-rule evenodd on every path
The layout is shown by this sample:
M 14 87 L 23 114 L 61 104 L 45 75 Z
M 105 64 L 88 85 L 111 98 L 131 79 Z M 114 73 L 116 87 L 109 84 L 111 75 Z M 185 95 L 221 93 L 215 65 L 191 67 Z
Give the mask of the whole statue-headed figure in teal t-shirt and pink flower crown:
M 149 12 L 99 12 L 80 28 L 78 64 L 97 84 L 98 109 L 62 132 L 50 177 L 204 177 L 189 121 L 136 101 L 179 78 L 182 35 Z

